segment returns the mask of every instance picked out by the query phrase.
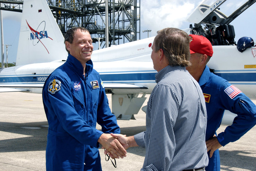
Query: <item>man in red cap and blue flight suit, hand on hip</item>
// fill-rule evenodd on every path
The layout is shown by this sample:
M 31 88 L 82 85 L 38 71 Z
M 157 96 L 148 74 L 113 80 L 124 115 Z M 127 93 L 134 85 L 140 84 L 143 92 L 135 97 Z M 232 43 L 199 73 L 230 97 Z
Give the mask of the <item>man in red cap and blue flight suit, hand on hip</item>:
M 210 41 L 203 36 L 190 36 L 190 62 L 186 69 L 198 81 L 206 102 L 207 128 L 206 146 L 209 164 L 206 171 L 220 171 L 219 148 L 240 139 L 256 124 L 256 105 L 227 80 L 210 73 L 206 66 L 213 50 Z M 217 136 L 224 110 L 237 114 L 231 126 Z

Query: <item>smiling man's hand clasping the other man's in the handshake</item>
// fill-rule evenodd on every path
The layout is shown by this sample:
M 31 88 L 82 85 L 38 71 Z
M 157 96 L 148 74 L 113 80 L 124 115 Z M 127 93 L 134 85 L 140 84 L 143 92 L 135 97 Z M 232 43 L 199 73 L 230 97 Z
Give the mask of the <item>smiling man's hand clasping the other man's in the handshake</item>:
M 111 136 L 110 134 L 101 134 L 98 142 L 102 145 L 102 147 L 106 148 L 106 151 L 112 154 L 113 158 L 126 157 L 126 150 L 124 147 L 115 137 Z

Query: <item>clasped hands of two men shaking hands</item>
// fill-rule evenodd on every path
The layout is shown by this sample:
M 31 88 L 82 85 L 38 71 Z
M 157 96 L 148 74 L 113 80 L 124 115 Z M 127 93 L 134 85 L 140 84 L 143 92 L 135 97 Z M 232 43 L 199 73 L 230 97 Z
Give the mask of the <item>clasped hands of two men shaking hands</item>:
M 101 134 L 98 142 L 105 148 L 104 154 L 108 154 L 111 158 L 126 157 L 126 149 L 138 146 L 134 140 L 134 136 L 126 137 L 122 134 Z

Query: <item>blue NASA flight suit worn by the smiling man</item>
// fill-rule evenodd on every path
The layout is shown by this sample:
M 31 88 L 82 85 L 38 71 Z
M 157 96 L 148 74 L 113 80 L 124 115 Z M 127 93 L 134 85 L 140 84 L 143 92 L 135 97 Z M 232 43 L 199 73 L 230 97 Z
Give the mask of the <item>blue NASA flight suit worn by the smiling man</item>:
M 49 123 L 46 169 L 101 170 L 99 143 L 104 133 L 120 133 L 111 113 L 99 73 L 91 60 L 82 64 L 69 54 L 67 61 L 47 78 L 43 103 Z M 97 130 L 96 122 L 102 131 Z

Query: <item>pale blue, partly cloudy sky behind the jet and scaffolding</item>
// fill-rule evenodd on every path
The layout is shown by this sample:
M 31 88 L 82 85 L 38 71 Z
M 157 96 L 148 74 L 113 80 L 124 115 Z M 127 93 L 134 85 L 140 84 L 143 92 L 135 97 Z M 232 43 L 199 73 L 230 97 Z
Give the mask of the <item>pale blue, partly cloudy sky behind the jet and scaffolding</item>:
M 185 19 L 200 4 L 198 0 L 141 0 L 141 39 L 156 36 L 156 32 L 166 27 L 186 29 L 190 24 Z M 235 29 L 235 41 L 243 36 L 256 41 L 256 3 L 239 15 L 230 24 Z M 21 13 L 2 11 L 4 44 L 8 47 L 8 63 L 16 61 L 20 34 Z M 1 51 L 1 48 L 0 48 Z M 1 61 L 0 61 L 1 62 Z M 4 46 L 4 62 L 6 63 L 6 47 Z

